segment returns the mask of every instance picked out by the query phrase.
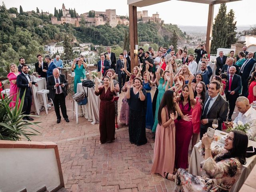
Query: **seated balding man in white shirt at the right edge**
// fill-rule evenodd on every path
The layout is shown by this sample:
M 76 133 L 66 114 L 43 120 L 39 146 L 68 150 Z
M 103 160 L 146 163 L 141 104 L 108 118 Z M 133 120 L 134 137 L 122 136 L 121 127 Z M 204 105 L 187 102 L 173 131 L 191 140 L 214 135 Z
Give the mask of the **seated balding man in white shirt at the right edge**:
M 239 114 L 235 118 L 234 122 L 229 122 L 227 125 L 233 127 L 234 123 L 248 123 L 250 125 L 250 129 L 246 134 L 250 140 L 253 140 L 256 136 L 256 110 L 250 106 L 248 98 L 244 96 L 237 98 L 236 107 Z

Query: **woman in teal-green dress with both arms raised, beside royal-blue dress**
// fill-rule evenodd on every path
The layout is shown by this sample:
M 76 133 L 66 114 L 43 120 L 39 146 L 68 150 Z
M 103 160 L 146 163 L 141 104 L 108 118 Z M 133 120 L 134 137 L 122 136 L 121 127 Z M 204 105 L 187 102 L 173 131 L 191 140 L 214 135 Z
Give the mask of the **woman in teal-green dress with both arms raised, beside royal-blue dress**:
M 158 109 L 161 103 L 161 100 L 164 96 L 164 92 L 166 90 L 168 90 L 169 88 L 172 87 L 173 84 L 173 76 L 172 76 L 172 64 L 170 62 L 170 67 L 169 67 L 169 71 L 164 71 L 162 73 L 162 77 L 160 76 L 160 70 L 163 64 L 163 59 L 161 58 L 160 60 L 160 66 L 157 68 L 156 70 L 156 83 L 158 85 L 157 89 L 158 89 L 158 95 L 157 95 L 157 99 L 156 99 L 156 112 L 155 112 L 155 122 L 154 122 L 154 126 L 152 128 L 152 132 L 156 132 L 156 126 L 158 124 Z

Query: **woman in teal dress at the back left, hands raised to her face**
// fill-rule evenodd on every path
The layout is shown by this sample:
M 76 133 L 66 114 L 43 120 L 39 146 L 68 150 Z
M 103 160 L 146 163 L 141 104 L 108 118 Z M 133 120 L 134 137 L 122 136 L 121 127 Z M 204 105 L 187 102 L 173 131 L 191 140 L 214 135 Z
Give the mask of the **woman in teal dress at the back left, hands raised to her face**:
M 77 63 L 76 63 L 77 62 Z M 87 64 L 82 60 L 81 58 L 74 59 L 74 62 L 71 66 L 74 69 L 75 72 L 75 78 L 74 78 L 74 93 L 76 93 L 77 84 L 81 83 L 81 79 L 85 79 L 85 68 L 87 67 Z

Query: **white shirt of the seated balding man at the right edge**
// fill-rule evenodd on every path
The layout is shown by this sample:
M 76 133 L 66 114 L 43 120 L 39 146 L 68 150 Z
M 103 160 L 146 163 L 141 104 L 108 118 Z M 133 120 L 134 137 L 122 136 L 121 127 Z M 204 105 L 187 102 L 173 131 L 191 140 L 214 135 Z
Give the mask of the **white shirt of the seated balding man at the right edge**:
M 244 114 L 239 112 L 238 116 L 234 120 L 234 123 L 237 124 L 238 121 L 242 121 L 243 124 L 251 124 L 250 129 L 246 134 L 248 138 L 252 140 L 256 136 L 256 110 L 251 106 Z

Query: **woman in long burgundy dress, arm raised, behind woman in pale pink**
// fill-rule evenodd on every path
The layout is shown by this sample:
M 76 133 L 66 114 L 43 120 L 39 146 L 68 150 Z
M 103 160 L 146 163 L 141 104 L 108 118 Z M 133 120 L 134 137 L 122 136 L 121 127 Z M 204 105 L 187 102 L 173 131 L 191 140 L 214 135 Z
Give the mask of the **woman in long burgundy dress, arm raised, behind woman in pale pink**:
M 189 77 L 189 83 L 182 88 L 182 94 L 177 98 L 179 106 L 184 115 L 192 115 L 196 104 L 191 82 L 194 76 Z M 193 134 L 192 121 L 175 120 L 175 167 L 188 168 L 188 148 Z

